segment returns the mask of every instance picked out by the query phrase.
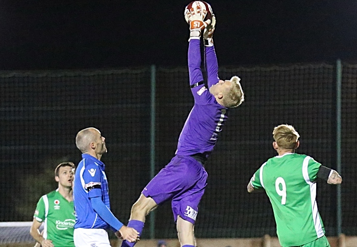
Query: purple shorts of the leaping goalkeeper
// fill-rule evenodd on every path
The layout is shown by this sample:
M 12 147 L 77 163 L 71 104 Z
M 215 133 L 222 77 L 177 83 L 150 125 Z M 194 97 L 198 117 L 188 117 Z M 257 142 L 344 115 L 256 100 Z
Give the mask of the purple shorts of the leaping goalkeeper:
M 141 192 L 156 204 L 172 199 L 175 222 L 177 215 L 195 224 L 198 203 L 207 185 L 207 172 L 203 165 L 189 156 L 175 156 L 170 163 L 151 179 Z

